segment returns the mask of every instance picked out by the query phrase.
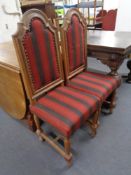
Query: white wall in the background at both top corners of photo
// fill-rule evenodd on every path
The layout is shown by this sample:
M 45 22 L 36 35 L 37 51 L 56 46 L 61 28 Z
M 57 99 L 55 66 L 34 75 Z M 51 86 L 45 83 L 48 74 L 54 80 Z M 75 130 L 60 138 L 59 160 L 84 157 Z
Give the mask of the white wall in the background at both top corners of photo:
M 20 11 L 16 2 L 19 6 L 19 0 L 0 0 L 0 42 L 11 39 L 11 34 L 16 31 L 16 24 L 19 21 L 17 15 L 6 15 L 2 10 L 2 5 L 5 5 L 9 12 Z M 104 9 L 115 8 L 118 8 L 116 31 L 131 31 L 131 0 L 104 0 Z

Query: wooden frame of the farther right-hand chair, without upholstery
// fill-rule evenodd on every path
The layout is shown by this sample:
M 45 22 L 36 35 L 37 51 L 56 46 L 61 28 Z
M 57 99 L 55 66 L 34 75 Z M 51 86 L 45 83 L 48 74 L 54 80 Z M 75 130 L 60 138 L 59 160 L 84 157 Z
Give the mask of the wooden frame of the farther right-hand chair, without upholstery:
M 66 16 L 65 16 L 64 22 L 63 22 L 63 26 L 60 29 L 66 84 L 69 84 L 70 79 L 73 78 L 75 75 L 77 75 L 77 74 L 79 74 L 87 69 L 87 49 L 85 49 L 85 57 L 86 57 L 85 63 L 74 71 L 69 70 L 69 60 L 68 60 L 69 55 L 68 55 L 68 44 L 67 44 L 68 42 L 67 42 L 66 32 L 68 31 L 69 25 L 71 23 L 72 15 L 77 15 L 77 17 L 79 18 L 79 21 L 81 22 L 81 24 L 84 28 L 84 31 L 85 31 L 84 32 L 85 33 L 84 48 L 87 48 L 87 33 L 88 32 L 87 32 L 86 20 L 85 20 L 84 16 L 82 15 L 82 13 L 78 9 L 72 8 L 72 9 L 68 10 L 68 12 L 66 13 Z M 108 112 L 109 114 L 112 113 L 113 108 L 115 106 L 115 97 L 116 97 L 116 90 L 112 92 L 112 94 L 108 98 L 109 100 L 106 99 L 106 101 L 103 103 L 103 104 L 106 104 L 107 106 L 109 106 L 109 112 Z

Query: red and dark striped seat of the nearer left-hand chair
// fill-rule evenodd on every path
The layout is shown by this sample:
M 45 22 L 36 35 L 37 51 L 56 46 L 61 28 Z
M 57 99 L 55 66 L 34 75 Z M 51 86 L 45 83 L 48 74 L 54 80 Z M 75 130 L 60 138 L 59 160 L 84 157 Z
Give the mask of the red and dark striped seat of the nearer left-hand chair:
M 99 98 L 69 87 L 58 87 L 30 106 L 32 113 L 69 137 L 99 107 Z

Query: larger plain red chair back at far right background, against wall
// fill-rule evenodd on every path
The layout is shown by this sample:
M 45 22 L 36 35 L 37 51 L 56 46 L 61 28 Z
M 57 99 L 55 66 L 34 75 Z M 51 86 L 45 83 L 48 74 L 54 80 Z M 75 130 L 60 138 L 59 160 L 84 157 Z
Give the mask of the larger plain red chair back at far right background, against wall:
M 115 30 L 117 9 L 109 10 L 108 13 L 102 18 L 102 30 Z

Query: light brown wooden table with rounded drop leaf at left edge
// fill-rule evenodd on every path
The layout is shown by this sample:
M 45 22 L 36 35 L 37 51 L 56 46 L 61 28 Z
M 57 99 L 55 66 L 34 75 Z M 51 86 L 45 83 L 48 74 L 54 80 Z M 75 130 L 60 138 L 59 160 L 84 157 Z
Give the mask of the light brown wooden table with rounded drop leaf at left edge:
M 23 119 L 26 98 L 13 43 L 0 43 L 0 107 L 11 117 Z

